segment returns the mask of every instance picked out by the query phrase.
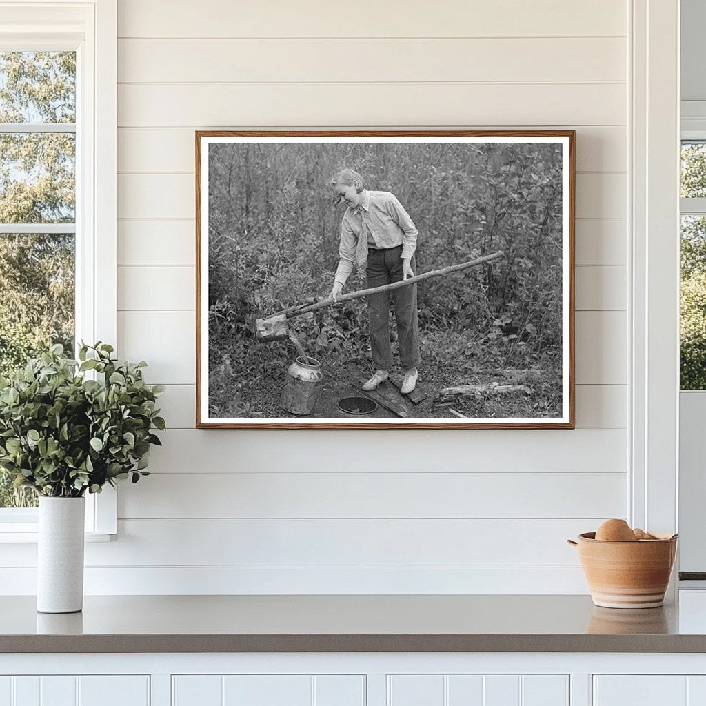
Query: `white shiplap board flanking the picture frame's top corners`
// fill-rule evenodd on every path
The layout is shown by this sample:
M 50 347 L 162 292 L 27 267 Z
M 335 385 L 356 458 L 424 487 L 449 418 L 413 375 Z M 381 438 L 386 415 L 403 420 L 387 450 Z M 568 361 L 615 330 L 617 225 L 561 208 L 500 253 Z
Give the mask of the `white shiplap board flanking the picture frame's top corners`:
M 546 129 L 573 128 L 573 125 L 566 125 Z M 193 174 L 195 129 L 120 128 L 118 171 Z M 534 126 L 532 129 L 541 130 L 542 126 Z M 625 127 L 585 126 L 579 128 L 576 133 L 576 168 L 579 172 L 625 172 L 627 154 Z

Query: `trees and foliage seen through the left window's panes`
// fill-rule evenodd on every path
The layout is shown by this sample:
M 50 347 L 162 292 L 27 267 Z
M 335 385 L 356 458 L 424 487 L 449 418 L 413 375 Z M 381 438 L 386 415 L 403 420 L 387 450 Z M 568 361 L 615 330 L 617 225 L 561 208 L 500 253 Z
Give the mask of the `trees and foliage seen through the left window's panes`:
M 76 54 L 0 52 L 0 375 L 74 350 Z M 0 508 L 33 493 L 0 472 Z

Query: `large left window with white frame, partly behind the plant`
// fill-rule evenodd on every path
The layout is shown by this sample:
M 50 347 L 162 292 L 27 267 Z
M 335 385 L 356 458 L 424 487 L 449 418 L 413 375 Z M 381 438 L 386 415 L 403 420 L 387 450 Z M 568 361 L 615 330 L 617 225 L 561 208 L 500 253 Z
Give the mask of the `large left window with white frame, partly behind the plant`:
M 116 342 L 115 113 L 116 0 L 0 0 L 0 375 Z M 0 472 L 0 542 L 36 532 L 35 504 Z M 115 532 L 114 491 L 86 509 Z

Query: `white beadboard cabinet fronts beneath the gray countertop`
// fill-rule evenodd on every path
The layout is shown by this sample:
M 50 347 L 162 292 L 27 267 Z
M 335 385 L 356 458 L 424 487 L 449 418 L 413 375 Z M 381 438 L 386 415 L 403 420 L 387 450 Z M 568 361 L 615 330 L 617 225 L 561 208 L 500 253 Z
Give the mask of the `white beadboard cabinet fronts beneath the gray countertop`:
M 700 653 L 0 655 L 0 706 L 704 704 Z

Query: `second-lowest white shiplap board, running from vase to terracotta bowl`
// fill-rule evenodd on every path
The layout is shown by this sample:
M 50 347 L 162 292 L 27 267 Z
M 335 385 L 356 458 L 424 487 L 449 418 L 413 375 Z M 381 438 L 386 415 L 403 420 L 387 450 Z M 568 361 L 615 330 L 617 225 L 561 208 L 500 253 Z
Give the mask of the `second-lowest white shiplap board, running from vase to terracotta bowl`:
M 578 558 L 564 539 L 601 522 L 121 520 L 121 541 L 88 544 L 86 565 L 570 565 Z

